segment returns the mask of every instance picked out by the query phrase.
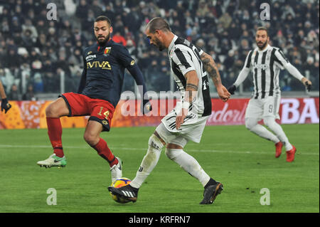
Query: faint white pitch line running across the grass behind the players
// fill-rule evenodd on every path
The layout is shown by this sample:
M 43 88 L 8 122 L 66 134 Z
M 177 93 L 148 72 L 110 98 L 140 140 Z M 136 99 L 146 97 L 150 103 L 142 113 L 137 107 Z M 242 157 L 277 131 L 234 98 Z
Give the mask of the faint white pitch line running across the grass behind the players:
M 63 146 L 65 149 L 90 149 L 88 146 Z M 50 148 L 51 146 L 46 145 L 11 145 L 11 144 L 0 144 L 0 149 L 4 148 Z M 132 148 L 132 147 L 112 147 L 112 149 L 119 149 L 119 150 L 134 150 L 134 151 L 145 151 L 146 148 Z M 208 153 L 230 153 L 230 154 L 273 154 L 273 151 L 270 152 L 259 152 L 259 151 L 225 151 L 225 150 L 215 150 L 215 149 L 186 149 L 186 152 L 208 152 Z M 315 155 L 319 156 L 319 153 L 309 153 L 309 152 L 299 152 L 297 154 L 304 154 L 304 155 Z

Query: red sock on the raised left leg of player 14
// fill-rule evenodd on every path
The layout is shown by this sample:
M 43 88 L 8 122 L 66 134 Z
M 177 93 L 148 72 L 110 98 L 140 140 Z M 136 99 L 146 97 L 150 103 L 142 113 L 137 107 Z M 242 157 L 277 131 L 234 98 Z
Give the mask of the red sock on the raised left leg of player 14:
M 64 154 L 61 141 L 62 126 L 60 118 L 47 117 L 47 125 L 49 139 L 53 147 L 53 153 L 55 153 L 55 155 L 58 157 L 63 157 Z

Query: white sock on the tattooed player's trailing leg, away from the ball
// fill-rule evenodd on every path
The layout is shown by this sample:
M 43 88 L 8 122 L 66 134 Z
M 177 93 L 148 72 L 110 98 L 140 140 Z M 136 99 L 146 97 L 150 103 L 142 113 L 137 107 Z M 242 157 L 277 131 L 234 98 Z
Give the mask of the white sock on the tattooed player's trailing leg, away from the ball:
M 176 162 L 188 174 L 194 176 L 203 186 L 206 186 L 210 176 L 201 168 L 197 160 L 190 154 L 187 154 L 183 149 L 166 149 L 166 156 Z

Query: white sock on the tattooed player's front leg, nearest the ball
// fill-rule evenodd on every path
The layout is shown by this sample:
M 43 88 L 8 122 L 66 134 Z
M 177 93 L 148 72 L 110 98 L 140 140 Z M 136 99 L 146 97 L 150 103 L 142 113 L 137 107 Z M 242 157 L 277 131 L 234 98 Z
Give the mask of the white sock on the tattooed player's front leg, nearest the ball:
M 142 163 L 140 164 L 136 177 L 130 183 L 131 186 L 137 189 L 142 186 L 146 177 L 148 177 L 154 167 L 156 167 L 162 147 L 164 147 L 164 145 L 161 143 L 159 138 L 152 134 L 149 138 L 148 151 L 146 152 L 144 159 L 142 159 Z

